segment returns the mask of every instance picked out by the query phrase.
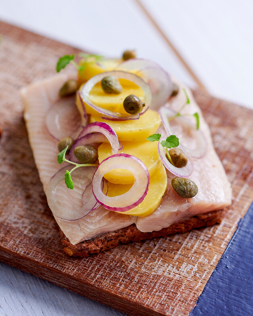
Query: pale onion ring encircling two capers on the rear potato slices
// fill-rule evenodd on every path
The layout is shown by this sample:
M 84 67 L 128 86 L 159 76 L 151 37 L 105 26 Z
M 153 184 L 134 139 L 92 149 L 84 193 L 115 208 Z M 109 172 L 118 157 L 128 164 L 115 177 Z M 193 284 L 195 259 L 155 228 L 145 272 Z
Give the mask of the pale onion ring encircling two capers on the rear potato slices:
M 119 79 L 127 79 L 129 81 L 134 82 L 137 86 L 139 86 L 143 92 L 144 92 L 144 103 L 145 107 L 143 108 L 142 112 L 146 110 L 147 107 L 149 107 L 151 103 L 151 91 L 149 86 L 138 76 L 126 72 L 126 71 L 108 71 L 108 72 L 103 72 L 101 74 L 98 74 L 91 79 L 89 79 L 82 87 L 80 91 L 80 96 L 83 100 L 83 102 L 87 103 L 90 107 L 92 107 L 94 110 L 96 110 L 99 113 L 102 113 L 102 115 L 114 118 L 114 119 L 119 119 L 119 120 L 128 120 L 128 119 L 139 119 L 140 114 L 138 113 L 136 115 L 125 115 L 121 114 L 118 112 L 113 112 L 107 109 L 104 109 L 100 106 L 96 106 L 89 100 L 89 93 L 91 89 L 95 86 L 96 83 L 100 82 L 105 76 L 116 76 Z

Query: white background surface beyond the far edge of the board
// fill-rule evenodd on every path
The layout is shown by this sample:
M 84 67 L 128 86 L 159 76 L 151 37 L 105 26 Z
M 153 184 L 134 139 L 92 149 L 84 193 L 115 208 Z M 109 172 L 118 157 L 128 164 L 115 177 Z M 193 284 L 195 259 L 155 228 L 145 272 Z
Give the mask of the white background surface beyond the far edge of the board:
M 211 94 L 252 107 L 253 1 L 141 1 Z M 0 19 L 106 56 L 135 48 L 194 86 L 134 0 L 1 0 Z

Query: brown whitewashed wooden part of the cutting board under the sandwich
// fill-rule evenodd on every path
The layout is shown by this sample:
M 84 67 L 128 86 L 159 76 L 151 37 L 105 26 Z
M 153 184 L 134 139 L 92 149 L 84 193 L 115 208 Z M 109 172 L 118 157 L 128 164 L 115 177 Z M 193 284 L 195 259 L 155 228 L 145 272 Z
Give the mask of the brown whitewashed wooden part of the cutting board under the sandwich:
M 0 33 L 0 260 L 131 315 L 188 315 L 253 199 L 253 111 L 194 92 L 233 188 L 219 226 L 70 258 L 34 164 L 19 88 L 78 50 L 2 22 Z

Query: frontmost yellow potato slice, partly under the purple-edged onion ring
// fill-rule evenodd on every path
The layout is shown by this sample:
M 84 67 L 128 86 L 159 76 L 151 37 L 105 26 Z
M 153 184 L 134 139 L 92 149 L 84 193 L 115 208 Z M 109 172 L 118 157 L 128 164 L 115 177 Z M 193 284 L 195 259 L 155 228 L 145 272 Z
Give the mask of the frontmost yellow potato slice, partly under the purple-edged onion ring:
M 144 200 L 133 209 L 118 213 L 133 216 L 147 216 L 157 209 L 165 195 L 168 179 L 164 165 L 162 163 L 159 165 L 160 167 L 150 177 L 148 192 Z M 122 195 L 130 190 L 131 187 L 132 184 L 123 185 L 108 182 L 108 196 L 114 197 Z

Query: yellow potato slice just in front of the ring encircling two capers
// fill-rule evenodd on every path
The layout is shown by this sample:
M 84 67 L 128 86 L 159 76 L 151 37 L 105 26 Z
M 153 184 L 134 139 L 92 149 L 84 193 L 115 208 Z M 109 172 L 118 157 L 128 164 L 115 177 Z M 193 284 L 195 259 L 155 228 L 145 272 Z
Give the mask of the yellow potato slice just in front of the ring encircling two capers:
M 109 121 L 100 116 L 90 116 L 90 123 L 105 122 L 116 132 L 120 141 L 144 141 L 154 134 L 161 124 L 161 119 L 156 111 L 147 110 L 136 120 Z

